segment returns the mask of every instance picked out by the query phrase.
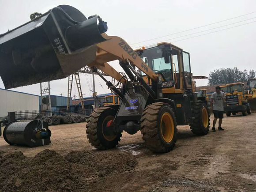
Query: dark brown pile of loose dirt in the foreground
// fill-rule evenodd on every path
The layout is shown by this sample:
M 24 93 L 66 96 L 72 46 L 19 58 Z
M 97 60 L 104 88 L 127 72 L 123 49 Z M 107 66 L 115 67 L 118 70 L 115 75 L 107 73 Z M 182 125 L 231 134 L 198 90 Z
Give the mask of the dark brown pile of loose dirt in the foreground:
M 73 151 L 62 156 L 45 150 L 33 158 L 22 152 L 0 154 L 2 191 L 85 190 L 98 177 L 132 172 L 136 159 L 127 153 L 111 151 Z

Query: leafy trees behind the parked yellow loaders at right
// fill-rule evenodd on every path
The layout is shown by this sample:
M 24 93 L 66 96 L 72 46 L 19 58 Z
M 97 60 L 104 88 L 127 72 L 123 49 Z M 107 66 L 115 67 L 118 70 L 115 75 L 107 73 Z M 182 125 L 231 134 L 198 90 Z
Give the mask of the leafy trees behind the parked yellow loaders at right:
M 213 72 L 209 73 L 208 84 L 209 85 L 218 85 L 218 84 L 227 84 L 235 82 L 244 82 L 247 79 L 256 78 L 256 71 L 250 70 L 240 71 L 235 68 L 221 68 L 216 69 Z

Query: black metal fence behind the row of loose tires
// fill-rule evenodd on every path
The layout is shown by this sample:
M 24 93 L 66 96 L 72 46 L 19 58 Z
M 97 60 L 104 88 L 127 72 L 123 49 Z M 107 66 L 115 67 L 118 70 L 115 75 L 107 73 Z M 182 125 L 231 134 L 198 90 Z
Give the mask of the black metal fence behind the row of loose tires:
M 93 109 L 81 109 L 79 111 L 77 110 L 63 110 L 63 109 L 58 109 L 58 110 L 44 110 L 44 111 L 39 111 L 39 110 L 24 110 L 24 111 L 15 111 L 15 119 L 16 120 L 32 120 L 34 119 L 37 115 L 42 115 L 45 117 L 52 117 L 52 116 L 65 116 L 65 115 L 80 115 L 81 117 L 87 117 L 92 113 Z

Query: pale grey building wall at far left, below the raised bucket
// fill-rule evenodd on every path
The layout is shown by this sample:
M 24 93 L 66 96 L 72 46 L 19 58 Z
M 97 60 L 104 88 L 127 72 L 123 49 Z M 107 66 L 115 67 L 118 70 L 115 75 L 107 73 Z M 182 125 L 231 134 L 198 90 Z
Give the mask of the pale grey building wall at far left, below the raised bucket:
M 22 110 L 39 110 L 39 96 L 0 89 L 0 117 Z

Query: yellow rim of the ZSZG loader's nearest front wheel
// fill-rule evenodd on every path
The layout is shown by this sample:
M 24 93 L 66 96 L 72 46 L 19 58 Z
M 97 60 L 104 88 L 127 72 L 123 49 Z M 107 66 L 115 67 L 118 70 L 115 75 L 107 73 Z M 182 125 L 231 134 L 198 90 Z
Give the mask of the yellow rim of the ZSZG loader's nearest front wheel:
M 166 143 L 171 142 L 174 136 L 174 122 L 170 113 L 166 112 L 162 115 L 160 126 L 164 141 Z

